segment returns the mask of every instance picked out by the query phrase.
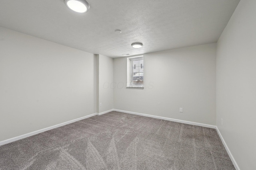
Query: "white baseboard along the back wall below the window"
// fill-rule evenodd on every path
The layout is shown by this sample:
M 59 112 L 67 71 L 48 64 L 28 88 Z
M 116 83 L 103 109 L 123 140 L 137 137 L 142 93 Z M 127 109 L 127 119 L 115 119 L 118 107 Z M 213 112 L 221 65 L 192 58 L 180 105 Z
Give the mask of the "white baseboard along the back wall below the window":
M 156 118 L 156 119 L 163 119 L 163 120 L 168 120 L 168 121 L 175 121 L 175 122 L 179 122 L 179 123 L 185 123 L 185 124 L 189 124 L 189 125 L 196 125 L 196 126 L 209 127 L 209 128 L 212 128 L 212 129 L 216 129 L 216 126 L 208 125 L 208 124 L 204 124 L 204 123 L 196 123 L 196 122 L 192 122 L 192 121 L 172 119 L 172 118 L 168 118 L 168 117 L 148 115 L 148 114 L 144 114 L 144 113 L 136 113 L 136 112 L 132 112 L 132 111 L 125 111 L 125 110 L 119 110 L 119 109 L 113 109 L 113 111 L 119 111 L 119 112 L 124 112 L 124 113 L 130 113 L 130 114 L 133 114 L 133 115 L 152 117 L 152 118 Z

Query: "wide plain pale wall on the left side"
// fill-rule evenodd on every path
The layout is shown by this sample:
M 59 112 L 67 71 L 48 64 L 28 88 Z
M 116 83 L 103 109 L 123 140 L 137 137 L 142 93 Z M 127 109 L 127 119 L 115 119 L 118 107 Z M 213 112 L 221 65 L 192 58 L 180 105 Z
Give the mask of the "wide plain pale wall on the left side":
M 0 27 L 0 141 L 96 113 L 96 58 Z

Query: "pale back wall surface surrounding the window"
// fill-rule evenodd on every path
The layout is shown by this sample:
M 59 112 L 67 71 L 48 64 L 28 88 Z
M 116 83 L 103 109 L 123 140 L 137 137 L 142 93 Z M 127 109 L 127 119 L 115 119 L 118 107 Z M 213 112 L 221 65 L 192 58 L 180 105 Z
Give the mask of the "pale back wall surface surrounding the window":
M 144 89 L 126 75 L 114 59 L 115 109 L 216 125 L 216 43 L 144 54 Z

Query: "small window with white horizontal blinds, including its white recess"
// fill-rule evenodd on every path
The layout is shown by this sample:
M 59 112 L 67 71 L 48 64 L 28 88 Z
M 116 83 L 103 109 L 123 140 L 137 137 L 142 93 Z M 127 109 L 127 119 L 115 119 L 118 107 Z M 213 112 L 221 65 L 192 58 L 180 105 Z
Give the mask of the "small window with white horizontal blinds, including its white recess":
M 127 58 L 127 87 L 144 87 L 143 56 Z

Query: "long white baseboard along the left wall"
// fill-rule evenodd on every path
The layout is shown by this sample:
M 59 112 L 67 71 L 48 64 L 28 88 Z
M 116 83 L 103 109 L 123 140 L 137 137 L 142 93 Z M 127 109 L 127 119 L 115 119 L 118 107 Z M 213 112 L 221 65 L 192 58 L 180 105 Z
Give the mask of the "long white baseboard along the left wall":
M 73 122 L 76 122 L 76 121 L 80 121 L 80 120 L 82 120 L 82 119 L 86 119 L 86 118 L 88 118 L 88 117 L 92 117 L 92 116 L 95 116 L 95 115 L 97 115 L 97 113 L 93 113 L 93 114 L 91 114 L 91 115 L 87 115 L 87 116 L 84 116 L 84 117 L 80 117 L 80 118 L 77 118 L 77 119 L 74 119 L 74 120 L 66 121 L 66 122 L 60 123 L 60 124 L 58 124 L 58 125 L 53 125 L 53 126 L 50 126 L 50 127 L 46 127 L 46 128 L 44 128 L 44 129 L 40 129 L 40 130 L 38 130 L 38 131 L 34 131 L 34 132 L 30 132 L 30 133 L 27 133 L 27 134 L 24 134 L 24 135 L 20 135 L 20 136 L 18 136 L 18 137 L 13 137 L 13 138 L 11 138 L 11 139 L 6 139 L 6 140 L 4 140 L 4 141 L 0 141 L 0 146 L 5 145 L 5 144 L 7 144 L 7 143 L 14 142 L 14 141 L 18 141 L 18 140 L 20 140 L 20 139 L 24 139 L 24 138 L 26 138 L 26 137 L 30 137 L 30 136 L 32 136 L 32 135 L 36 135 L 36 134 L 38 134 L 38 133 L 42 133 L 42 132 L 45 132 L 45 131 L 48 131 L 48 130 L 51 130 L 51 129 L 54 129 L 54 128 L 57 128 L 57 127 L 61 127 L 61 126 L 64 126 L 64 125 L 68 125 L 68 124 L 70 124 L 70 123 L 73 123 Z

